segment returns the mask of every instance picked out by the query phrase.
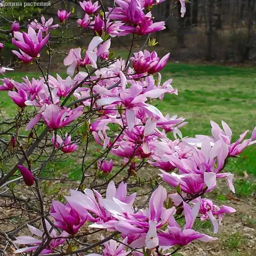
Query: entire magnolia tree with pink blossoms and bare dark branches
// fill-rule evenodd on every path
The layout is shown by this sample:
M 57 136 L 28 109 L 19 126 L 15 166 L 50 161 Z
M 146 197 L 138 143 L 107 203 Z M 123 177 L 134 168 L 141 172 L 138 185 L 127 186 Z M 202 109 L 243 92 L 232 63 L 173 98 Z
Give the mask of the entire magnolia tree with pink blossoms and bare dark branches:
M 143 49 L 156 44 L 150 33 L 165 28 L 150 11 L 162 1 L 116 0 L 108 10 L 102 2 L 80 2 L 84 18 L 77 26 L 93 36 L 86 51 L 67 50 L 67 77 L 50 72 L 58 53 L 51 31 L 68 28 L 74 12 L 59 10 L 59 24 L 43 16 L 30 20 L 22 31 L 13 23 L 13 54 L 20 65 L 35 63 L 42 75 L 20 83 L 4 76 L 12 65 L 0 67 L 0 90 L 17 106 L 17 115 L 0 123 L 1 207 L 21 212 L 11 230 L 1 226 L 3 252 L 172 255 L 191 241 L 217 239 L 196 231 L 196 218 L 211 221 L 216 234 L 223 214 L 236 211 L 205 194 L 218 179 L 235 192 L 234 175 L 224 169 L 255 143 L 256 129 L 250 139 L 246 131 L 232 142 L 230 127 L 211 121 L 212 136 L 182 137 L 185 119 L 154 106 L 166 93 L 177 95 L 172 79 L 163 82 L 159 73 L 170 54 L 159 58 Z M 184 16 L 185 1 L 180 3 Z M 131 38 L 127 60 L 109 51 L 111 37 L 125 35 Z M 134 48 L 142 35 L 147 41 Z M 47 68 L 40 64 L 42 51 L 49 55 Z M 51 170 L 72 152 L 81 160 L 78 184 L 68 182 L 65 170 Z M 69 194 L 61 195 L 56 184 L 71 188 Z

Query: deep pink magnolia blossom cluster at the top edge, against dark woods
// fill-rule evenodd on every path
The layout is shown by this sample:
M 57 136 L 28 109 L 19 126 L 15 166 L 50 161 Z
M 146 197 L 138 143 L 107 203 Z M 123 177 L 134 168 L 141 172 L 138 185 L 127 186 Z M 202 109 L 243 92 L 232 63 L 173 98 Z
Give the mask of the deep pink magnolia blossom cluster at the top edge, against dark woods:
M 103 33 L 110 36 L 124 36 L 129 34 L 148 35 L 156 31 L 163 30 L 164 22 L 153 22 L 152 13 L 147 10 L 163 1 L 116 1 L 115 8 L 109 8 L 109 12 L 99 12 L 98 2 L 80 2 L 84 10 L 83 19 L 78 19 L 77 23 L 88 29 L 93 29 L 97 35 Z M 105 18 L 106 17 L 106 18 Z

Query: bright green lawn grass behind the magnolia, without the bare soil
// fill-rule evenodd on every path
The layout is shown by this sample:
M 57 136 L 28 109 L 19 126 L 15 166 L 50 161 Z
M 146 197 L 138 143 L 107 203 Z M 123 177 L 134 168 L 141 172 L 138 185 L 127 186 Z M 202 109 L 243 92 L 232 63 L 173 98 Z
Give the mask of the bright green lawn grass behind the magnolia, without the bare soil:
M 237 140 L 239 134 L 247 129 L 252 131 L 256 125 L 255 72 L 255 68 L 169 63 L 162 72 L 162 81 L 173 78 L 172 86 L 178 88 L 179 96 L 166 95 L 163 101 L 158 100 L 154 104 L 164 114 L 186 117 L 189 124 L 182 127 L 183 136 L 210 135 L 210 120 L 218 124 L 224 120 L 230 125 L 234 132 L 234 139 Z M 29 78 L 40 76 L 35 72 L 6 72 L 6 75 L 17 81 L 21 81 L 22 76 Z M 8 115 L 14 115 L 16 108 L 6 92 L 1 92 L 0 102 L 3 102 L 0 105 L 2 111 Z M 70 163 L 61 163 L 58 168 L 60 167 L 74 170 L 70 175 L 74 179 L 79 177 L 76 172 L 81 172 L 79 168 L 74 168 L 73 159 Z M 226 170 L 237 175 L 243 175 L 244 172 L 256 175 L 255 145 L 244 150 L 241 157 L 231 159 Z M 251 186 L 251 184 L 247 185 Z M 241 194 L 243 189 L 246 190 L 244 186 L 247 185 L 236 183 L 236 186 L 243 186 Z M 255 188 L 254 185 L 252 185 L 253 188 Z

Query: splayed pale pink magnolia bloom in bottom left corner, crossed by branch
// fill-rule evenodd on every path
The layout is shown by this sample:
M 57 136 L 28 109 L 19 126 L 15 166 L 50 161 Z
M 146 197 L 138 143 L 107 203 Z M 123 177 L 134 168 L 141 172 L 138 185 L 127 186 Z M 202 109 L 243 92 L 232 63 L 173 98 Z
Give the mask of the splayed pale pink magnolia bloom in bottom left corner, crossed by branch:
M 45 220 L 45 224 L 47 227 L 48 232 L 51 234 L 51 236 L 54 237 L 67 237 L 68 233 L 63 231 L 60 235 L 57 234 L 55 229 L 52 229 L 51 224 Z M 42 230 L 39 230 L 38 228 L 35 228 L 29 224 L 27 224 L 29 231 L 33 234 L 33 236 L 18 236 L 16 237 L 16 240 L 13 241 L 13 243 L 15 244 L 28 244 L 30 246 L 25 247 L 25 248 L 21 248 L 15 251 L 15 253 L 26 253 L 26 252 L 34 252 L 38 246 L 40 246 L 41 243 L 43 243 L 43 241 L 45 241 L 45 233 Z M 37 239 L 35 236 L 41 237 L 41 239 Z M 52 253 L 54 252 L 55 248 L 58 248 L 58 246 L 60 246 L 60 244 L 63 244 L 66 241 L 65 238 L 56 238 L 56 239 L 51 239 L 51 242 L 49 243 L 49 245 L 42 250 L 42 252 L 40 254 L 44 255 L 44 254 L 48 254 L 48 253 Z

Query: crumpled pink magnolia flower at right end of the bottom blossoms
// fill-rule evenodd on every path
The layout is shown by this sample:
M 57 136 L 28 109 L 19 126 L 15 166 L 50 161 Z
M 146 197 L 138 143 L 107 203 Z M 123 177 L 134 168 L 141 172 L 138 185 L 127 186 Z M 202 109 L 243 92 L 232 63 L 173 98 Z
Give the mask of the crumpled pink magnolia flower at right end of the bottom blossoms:
M 218 205 L 212 204 L 212 201 L 206 198 L 204 199 L 197 198 L 196 200 L 194 200 L 194 202 L 200 202 L 199 213 L 202 214 L 200 220 L 204 221 L 209 218 L 211 220 L 212 227 L 215 234 L 218 233 L 219 224 L 221 223 L 223 214 L 236 212 L 234 208 L 226 205 L 222 205 L 222 207 L 220 208 L 218 207 Z M 214 216 L 218 216 L 219 223 Z

